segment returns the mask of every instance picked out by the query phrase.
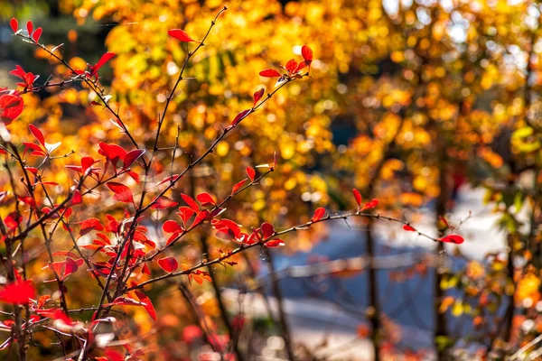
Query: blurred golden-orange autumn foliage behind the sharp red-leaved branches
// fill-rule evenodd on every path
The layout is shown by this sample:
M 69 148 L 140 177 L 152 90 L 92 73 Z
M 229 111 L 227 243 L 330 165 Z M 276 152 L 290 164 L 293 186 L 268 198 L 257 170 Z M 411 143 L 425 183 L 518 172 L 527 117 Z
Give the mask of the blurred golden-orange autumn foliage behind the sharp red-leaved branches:
M 75 68 L 114 51 L 117 57 L 102 74 L 112 96 L 109 104 L 150 149 L 157 115 L 186 55 L 184 44 L 169 38 L 167 31 L 181 28 L 201 39 L 223 5 L 219 0 L 0 0 L 0 83 L 14 87 L 14 78 L 7 75 L 14 63 L 42 79 L 68 75 L 46 53 L 13 42 L 7 26 L 12 16 L 42 26 L 42 42 L 51 47 L 63 42 L 61 53 Z M 245 177 L 246 166 L 271 162 L 276 151 L 278 171 L 229 204 L 228 217 L 245 227 L 257 227 L 262 220 L 289 227 L 307 221 L 317 207 L 351 208 L 350 190 L 356 187 L 365 197 L 377 197 L 379 208 L 398 218 L 416 220 L 419 208 L 436 208 L 435 227 L 445 228 L 437 216 L 453 209 L 459 187 L 483 187 L 489 207 L 500 215 L 509 247 L 504 255 L 471 261 L 470 268 L 457 273 L 446 270 L 440 287 L 457 288 L 472 300 L 468 312 L 474 326 L 492 328 L 476 340 L 487 350 L 507 352 L 511 344 L 526 343 L 542 332 L 537 310 L 542 256 L 542 102 L 537 96 L 542 40 L 537 1 L 233 0 L 227 5 L 229 11 L 192 59 L 189 78 L 168 109 L 159 145 L 173 146 L 180 130 L 181 152 L 173 160 L 174 169 L 182 169 L 191 154 L 203 152 L 220 134 L 220 125 L 250 107 L 258 88 L 274 87 L 272 80 L 257 75 L 260 70 L 284 65 L 292 53 L 299 56 L 303 44 L 315 54 L 313 79 L 294 82 L 244 121 L 191 180 L 182 182 L 178 193 L 207 190 L 225 197 Z M 109 122 L 107 110 L 89 106 L 96 95 L 83 85 L 24 97 L 27 106 L 20 129 L 13 128 L 15 135 L 26 134 L 23 125 L 39 125 L 51 141 L 62 141 L 59 153 L 97 152 L 104 139 L 129 146 Z M 170 171 L 171 153 L 161 154 L 155 180 Z M 66 158 L 56 164 L 72 163 Z M 61 184 L 70 182 L 64 171 L 55 177 Z M 110 206 L 96 207 L 111 212 Z M 527 209 L 527 221 L 520 217 L 521 209 Z M 96 208 L 87 212 L 80 219 L 96 214 Z M 155 215 L 156 237 L 167 217 L 171 215 Z M 327 231 L 318 227 L 313 233 L 301 232 L 288 239 L 285 252 L 310 250 Z M 201 238 L 209 238 L 212 253 L 229 247 L 202 233 L 177 250 L 185 263 L 205 257 Z M 244 262 L 248 259 L 255 261 Z M 509 259 L 516 259 L 518 267 Z M 260 266 L 257 254 L 237 261 L 235 270 L 217 272 L 219 283 L 250 282 L 248 265 Z M 450 280 L 462 281 L 458 285 Z M 209 284 L 192 286 L 202 288 L 198 294 L 210 289 Z M 169 346 L 152 352 L 182 355 L 168 339 L 186 341 L 182 326 L 190 312 L 178 297 L 163 297 L 164 289 L 155 287 L 151 293 L 164 315 L 158 326 L 164 332 L 153 338 L 157 345 Z M 507 296 L 515 302 L 507 303 Z M 83 301 L 93 296 L 80 292 L 70 297 Z M 448 297 L 436 300 L 440 313 L 463 314 L 463 303 Z M 220 324 L 214 298 L 202 307 L 211 323 Z M 510 307 L 515 317 L 507 316 L 508 311 L 499 315 Z M 133 333 L 156 327 L 145 311 L 140 313 L 134 319 L 139 330 Z M 537 320 L 536 327 L 515 339 L 511 331 L 501 332 L 511 330 L 512 320 L 520 318 Z M 459 340 L 441 344 L 447 348 Z

